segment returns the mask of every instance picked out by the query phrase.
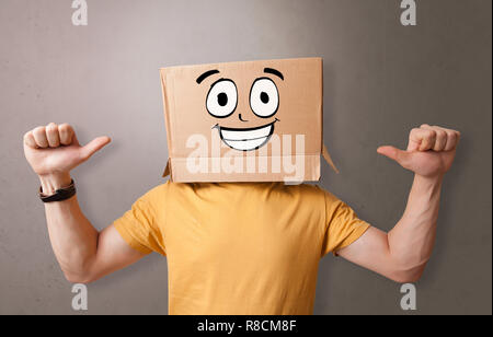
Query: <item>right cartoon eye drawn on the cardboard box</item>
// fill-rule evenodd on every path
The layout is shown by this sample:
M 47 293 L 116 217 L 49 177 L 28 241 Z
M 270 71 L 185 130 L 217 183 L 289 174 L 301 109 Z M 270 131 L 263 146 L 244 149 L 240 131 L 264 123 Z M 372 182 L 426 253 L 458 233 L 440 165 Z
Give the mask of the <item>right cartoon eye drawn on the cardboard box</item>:
M 273 80 L 261 78 L 253 82 L 250 90 L 250 107 L 262 118 L 268 118 L 277 113 L 279 107 L 279 92 Z

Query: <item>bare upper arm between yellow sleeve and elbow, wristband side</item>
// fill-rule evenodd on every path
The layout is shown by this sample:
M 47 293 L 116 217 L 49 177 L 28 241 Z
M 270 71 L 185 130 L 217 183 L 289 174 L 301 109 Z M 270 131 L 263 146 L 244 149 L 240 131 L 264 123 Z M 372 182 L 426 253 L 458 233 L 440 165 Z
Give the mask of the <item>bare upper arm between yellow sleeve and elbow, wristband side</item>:
M 146 255 L 125 242 L 115 225 L 112 224 L 99 235 L 98 251 L 90 267 L 91 280 L 98 280 L 108 274 L 123 269 Z

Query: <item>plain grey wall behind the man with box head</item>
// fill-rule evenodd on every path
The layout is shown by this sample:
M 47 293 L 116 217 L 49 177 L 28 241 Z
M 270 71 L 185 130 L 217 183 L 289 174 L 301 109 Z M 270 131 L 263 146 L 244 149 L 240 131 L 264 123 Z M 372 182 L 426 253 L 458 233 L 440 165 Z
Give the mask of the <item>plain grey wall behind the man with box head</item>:
M 110 147 L 73 172 L 98 229 L 163 183 L 167 141 L 158 68 L 271 58 L 324 58 L 324 141 L 341 170 L 320 185 L 390 230 L 412 174 L 379 156 L 423 123 L 457 128 L 437 244 L 417 287 L 417 314 L 492 312 L 492 26 L 490 0 L 70 0 L 0 2 L 0 313 L 72 314 L 53 255 L 38 181 L 22 136 L 49 121 Z M 400 286 L 343 259 L 320 263 L 316 314 L 409 314 Z M 89 286 L 90 314 L 165 314 L 167 260 L 157 254 Z

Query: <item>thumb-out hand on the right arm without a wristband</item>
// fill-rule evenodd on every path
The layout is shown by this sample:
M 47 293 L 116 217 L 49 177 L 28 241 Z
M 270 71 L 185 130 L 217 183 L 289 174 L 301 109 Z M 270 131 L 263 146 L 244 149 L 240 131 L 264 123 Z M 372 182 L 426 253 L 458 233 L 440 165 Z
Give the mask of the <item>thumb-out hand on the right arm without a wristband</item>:
M 459 131 L 424 124 L 411 130 L 408 150 L 380 147 L 377 152 L 416 175 L 442 177 L 454 162 L 459 139 Z

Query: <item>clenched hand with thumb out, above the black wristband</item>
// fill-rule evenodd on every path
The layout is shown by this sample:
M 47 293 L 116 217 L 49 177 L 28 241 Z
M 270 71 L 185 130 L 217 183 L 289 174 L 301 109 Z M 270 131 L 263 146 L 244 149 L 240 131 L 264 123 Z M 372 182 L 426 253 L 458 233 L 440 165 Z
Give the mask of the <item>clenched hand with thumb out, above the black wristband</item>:
M 80 146 L 70 125 L 50 123 L 24 135 L 24 154 L 41 177 L 68 175 L 110 141 L 108 137 L 99 137 Z

